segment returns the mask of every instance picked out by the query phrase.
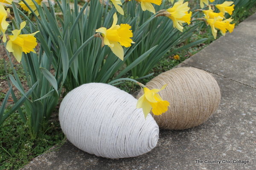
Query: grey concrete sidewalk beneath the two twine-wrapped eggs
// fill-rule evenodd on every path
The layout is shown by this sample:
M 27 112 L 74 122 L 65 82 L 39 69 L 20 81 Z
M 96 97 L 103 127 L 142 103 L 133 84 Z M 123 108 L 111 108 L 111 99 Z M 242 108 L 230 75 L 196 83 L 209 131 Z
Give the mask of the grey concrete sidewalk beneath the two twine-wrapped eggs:
M 157 146 L 134 158 L 97 157 L 66 142 L 22 170 L 256 170 L 256 14 L 178 67 L 208 71 L 221 88 L 218 110 L 202 125 L 160 130 Z

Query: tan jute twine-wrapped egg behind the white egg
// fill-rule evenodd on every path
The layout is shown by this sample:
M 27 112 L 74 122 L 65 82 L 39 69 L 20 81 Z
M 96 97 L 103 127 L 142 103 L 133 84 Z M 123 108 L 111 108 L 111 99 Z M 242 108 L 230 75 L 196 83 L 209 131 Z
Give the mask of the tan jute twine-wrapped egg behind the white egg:
M 165 89 L 158 94 L 170 102 L 166 113 L 151 113 L 160 128 L 182 130 L 206 121 L 218 108 L 221 92 L 216 80 L 206 71 L 197 68 L 175 68 L 166 71 L 146 84 L 149 89 Z M 137 99 L 143 92 L 137 96 Z

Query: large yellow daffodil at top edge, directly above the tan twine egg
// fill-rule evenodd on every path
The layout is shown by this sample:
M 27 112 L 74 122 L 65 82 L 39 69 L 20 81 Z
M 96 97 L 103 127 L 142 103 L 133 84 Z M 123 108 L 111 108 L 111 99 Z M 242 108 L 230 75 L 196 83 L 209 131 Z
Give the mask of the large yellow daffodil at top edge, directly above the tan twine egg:
M 173 27 L 183 32 L 182 23 L 190 24 L 192 12 L 188 13 L 188 2 L 183 3 L 183 0 L 179 0 L 174 3 L 172 8 L 167 9 L 166 17 L 169 17 L 173 21 Z

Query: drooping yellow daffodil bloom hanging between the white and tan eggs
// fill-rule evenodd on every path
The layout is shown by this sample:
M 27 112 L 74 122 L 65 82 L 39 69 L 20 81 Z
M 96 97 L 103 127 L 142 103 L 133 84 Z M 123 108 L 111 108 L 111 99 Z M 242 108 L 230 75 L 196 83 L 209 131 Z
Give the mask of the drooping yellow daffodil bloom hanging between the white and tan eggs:
M 152 90 L 143 87 L 144 94 L 138 99 L 137 108 L 142 108 L 145 119 L 151 109 L 152 113 L 155 115 L 160 115 L 168 110 L 170 103 L 163 100 L 161 96 L 157 94 L 159 91 L 163 90 L 166 85 L 164 85 L 161 89 L 154 88 Z

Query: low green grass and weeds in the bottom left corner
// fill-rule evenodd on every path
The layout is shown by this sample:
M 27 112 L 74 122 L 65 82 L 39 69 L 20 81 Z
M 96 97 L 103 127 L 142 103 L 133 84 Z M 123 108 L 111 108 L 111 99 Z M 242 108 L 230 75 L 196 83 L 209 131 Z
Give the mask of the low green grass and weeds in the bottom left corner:
M 24 107 L 21 108 L 25 113 Z M 31 133 L 29 121 L 24 123 L 18 113 L 10 115 L 0 126 L 0 169 L 20 169 L 53 145 L 61 145 L 64 134 L 59 122 L 51 122 L 44 127 L 47 129 L 35 136 Z

